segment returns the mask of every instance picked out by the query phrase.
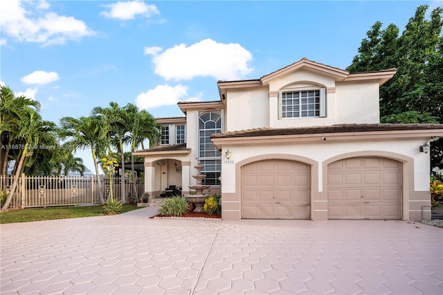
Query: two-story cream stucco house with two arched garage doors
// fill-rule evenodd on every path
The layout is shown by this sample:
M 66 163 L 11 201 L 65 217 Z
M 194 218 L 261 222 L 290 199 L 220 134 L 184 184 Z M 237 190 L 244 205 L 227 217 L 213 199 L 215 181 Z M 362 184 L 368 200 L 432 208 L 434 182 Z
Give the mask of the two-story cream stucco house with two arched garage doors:
M 422 146 L 443 125 L 379 124 L 379 87 L 395 73 L 303 58 L 257 80 L 220 81 L 219 100 L 179 102 L 185 116 L 158 119 L 161 144 L 135 153 L 145 191 L 189 193 L 200 161 L 224 220 L 429 218 Z

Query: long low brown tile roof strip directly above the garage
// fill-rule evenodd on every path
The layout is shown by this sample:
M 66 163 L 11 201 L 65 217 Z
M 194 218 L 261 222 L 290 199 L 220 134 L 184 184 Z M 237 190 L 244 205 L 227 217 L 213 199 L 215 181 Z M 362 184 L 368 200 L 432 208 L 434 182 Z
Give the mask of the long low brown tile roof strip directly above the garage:
M 233 138 L 249 136 L 284 136 L 299 134 L 327 134 L 343 132 L 377 132 L 399 130 L 443 129 L 443 124 L 340 124 L 332 126 L 296 128 L 257 128 L 213 134 L 210 138 Z M 442 134 L 443 135 L 443 134 Z

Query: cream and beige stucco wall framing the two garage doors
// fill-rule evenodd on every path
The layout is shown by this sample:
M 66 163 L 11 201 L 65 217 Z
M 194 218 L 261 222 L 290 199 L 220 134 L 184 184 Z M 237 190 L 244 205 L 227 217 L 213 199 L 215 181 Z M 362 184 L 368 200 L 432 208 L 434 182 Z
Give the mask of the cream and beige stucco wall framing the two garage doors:
M 327 164 L 347 157 L 388 157 L 403 163 L 403 219 L 417 220 L 421 216 L 422 206 L 430 204 L 429 196 L 429 154 L 420 153 L 419 145 L 424 140 L 390 140 L 390 141 L 361 141 L 361 142 L 331 142 L 314 143 L 273 143 L 261 145 L 230 145 L 231 158 L 229 162 L 222 161 L 221 184 L 224 219 L 238 219 L 241 202 L 241 166 L 249 159 L 300 159 L 309 163 L 314 179 L 311 186 L 311 219 L 327 220 Z M 232 163 L 233 161 L 233 163 Z M 297 161 L 297 160 L 296 160 Z M 226 198 L 225 198 L 226 196 Z M 229 208 L 229 209 L 227 209 Z M 234 209 L 233 209 L 234 208 Z M 235 209 L 238 208 L 238 209 Z M 425 216 L 429 215 L 427 211 Z

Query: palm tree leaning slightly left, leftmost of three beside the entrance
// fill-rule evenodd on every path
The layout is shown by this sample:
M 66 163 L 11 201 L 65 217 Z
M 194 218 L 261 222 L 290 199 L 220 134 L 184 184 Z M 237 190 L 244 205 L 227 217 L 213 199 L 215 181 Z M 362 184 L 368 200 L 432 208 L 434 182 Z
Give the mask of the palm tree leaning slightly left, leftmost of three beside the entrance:
M 98 170 L 97 154 L 101 154 L 107 145 L 107 126 L 100 116 L 89 117 L 63 117 L 60 120 L 62 125 L 60 136 L 67 139 L 66 145 L 72 145 L 75 150 L 90 148 L 98 181 L 100 201 L 105 204 L 102 184 L 100 181 L 100 171 Z

